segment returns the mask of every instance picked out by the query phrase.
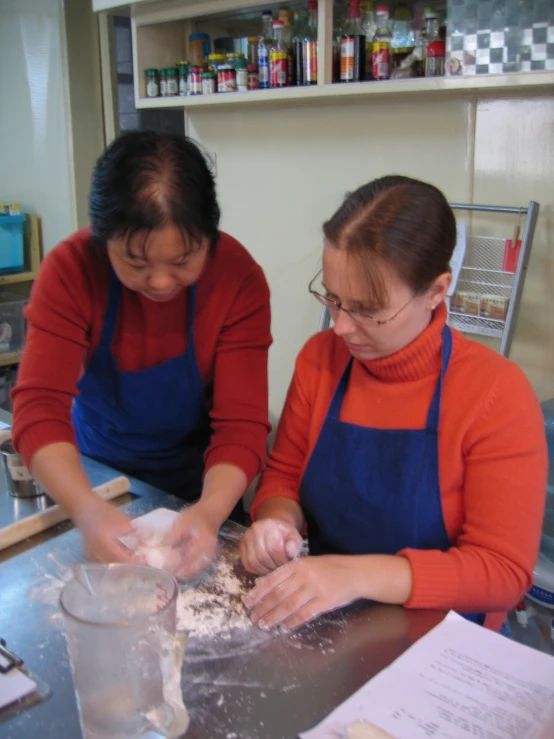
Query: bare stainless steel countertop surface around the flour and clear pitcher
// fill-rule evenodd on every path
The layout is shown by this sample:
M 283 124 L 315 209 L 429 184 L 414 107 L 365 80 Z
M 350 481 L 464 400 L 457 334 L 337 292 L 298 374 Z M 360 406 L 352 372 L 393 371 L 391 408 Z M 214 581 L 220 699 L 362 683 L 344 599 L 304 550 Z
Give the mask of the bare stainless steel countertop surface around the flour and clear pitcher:
M 85 460 L 92 484 L 114 471 Z M 130 516 L 181 501 L 132 481 Z M 0 496 L 7 495 L 0 489 Z M 226 524 L 223 556 L 237 560 L 241 527 Z M 61 615 L 60 573 L 83 560 L 66 522 L 4 552 L 0 636 L 46 682 L 49 700 L 0 723 L 2 739 L 81 737 Z M 241 568 L 236 565 L 237 571 Z M 248 575 L 242 571 L 241 577 Z M 51 587 L 49 587 L 51 585 Z M 261 632 L 237 645 L 189 641 L 182 687 L 191 716 L 186 739 L 293 739 L 435 626 L 441 614 L 360 602 L 291 635 Z M 230 648 L 232 647 L 232 648 Z

